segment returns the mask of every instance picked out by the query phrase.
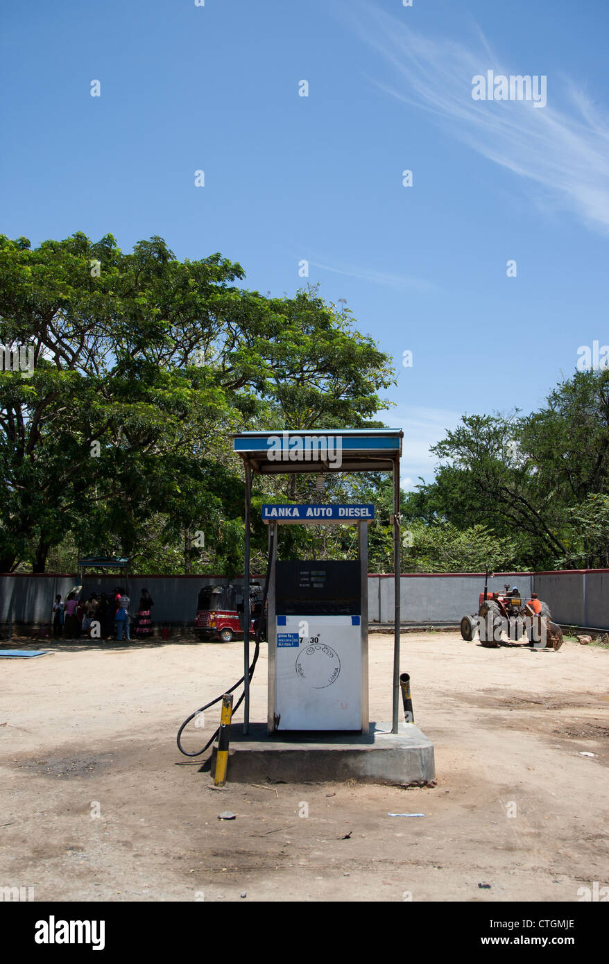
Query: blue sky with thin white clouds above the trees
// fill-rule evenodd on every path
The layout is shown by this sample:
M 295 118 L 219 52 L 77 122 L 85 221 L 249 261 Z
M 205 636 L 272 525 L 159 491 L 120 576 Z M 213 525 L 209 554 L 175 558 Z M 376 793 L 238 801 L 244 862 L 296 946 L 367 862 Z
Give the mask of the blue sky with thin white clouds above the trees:
M 0 230 L 160 234 L 278 295 L 306 259 L 395 359 L 407 488 L 463 413 L 528 412 L 609 342 L 604 0 L 33 0 L 1 22 Z M 489 69 L 545 76 L 546 106 L 474 101 Z

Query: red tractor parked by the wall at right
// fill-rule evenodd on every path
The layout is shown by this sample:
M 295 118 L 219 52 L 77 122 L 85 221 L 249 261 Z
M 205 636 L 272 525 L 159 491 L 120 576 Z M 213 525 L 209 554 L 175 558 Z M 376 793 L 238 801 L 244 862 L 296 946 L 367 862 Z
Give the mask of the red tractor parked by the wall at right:
M 563 645 L 563 632 L 560 626 L 551 622 L 551 618 L 548 604 L 543 603 L 537 593 L 532 593 L 531 599 L 524 604 L 517 586 L 510 588 L 509 582 L 504 584 L 502 593 L 490 593 L 487 567 L 485 588 L 478 600 L 478 615 L 463 616 L 461 634 L 463 639 L 471 642 L 479 632 L 482 646 L 496 648 L 502 643 L 504 631 L 510 642 L 516 643 L 526 630 L 528 645 L 535 646 L 545 639 L 545 647 L 556 651 Z

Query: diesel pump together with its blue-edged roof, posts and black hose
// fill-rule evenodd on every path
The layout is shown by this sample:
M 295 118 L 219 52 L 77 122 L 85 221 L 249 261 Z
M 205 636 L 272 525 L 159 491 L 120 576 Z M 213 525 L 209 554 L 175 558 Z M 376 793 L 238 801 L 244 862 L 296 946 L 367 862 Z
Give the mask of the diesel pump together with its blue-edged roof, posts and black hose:
M 400 696 L 400 456 L 401 429 L 282 430 L 239 432 L 233 448 L 245 472 L 243 676 L 225 694 L 195 710 L 177 733 L 187 757 L 209 748 L 220 728 L 197 751 L 181 743 L 185 728 L 243 684 L 233 712 L 244 703 L 243 735 L 250 734 L 250 683 L 266 632 L 268 638 L 267 730 L 274 733 L 367 734 L 368 723 L 368 522 L 372 505 L 263 505 L 269 554 L 260 612 L 252 612 L 250 538 L 254 474 L 316 475 L 332 471 L 386 471 L 393 478 L 393 683 L 391 733 L 398 734 Z M 277 557 L 279 524 L 357 525 L 358 559 L 304 560 Z M 264 618 L 264 610 L 267 618 Z M 251 624 L 251 617 L 253 624 Z M 252 630 L 252 625 L 254 629 Z M 253 634 L 253 635 L 252 635 Z M 251 661 L 250 642 L 254 652 Z

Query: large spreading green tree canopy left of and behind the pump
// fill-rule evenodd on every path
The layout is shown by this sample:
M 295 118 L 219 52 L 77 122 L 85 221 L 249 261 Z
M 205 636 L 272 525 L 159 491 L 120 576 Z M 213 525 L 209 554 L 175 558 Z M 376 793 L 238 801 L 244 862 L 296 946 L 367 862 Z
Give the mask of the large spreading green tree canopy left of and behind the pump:
M 34 358 L 0 373 L 0 572 L 43 572 L 53 553 L 73 569 L 79 550 L 234 571 L 230 433 L 379 424 L 393 372 L 350 312 L 244 278 L 221 254 L 180 261 L 160 237 L 123 254 L 112 235 L 36 249 L 0 236 L 0 342 Z

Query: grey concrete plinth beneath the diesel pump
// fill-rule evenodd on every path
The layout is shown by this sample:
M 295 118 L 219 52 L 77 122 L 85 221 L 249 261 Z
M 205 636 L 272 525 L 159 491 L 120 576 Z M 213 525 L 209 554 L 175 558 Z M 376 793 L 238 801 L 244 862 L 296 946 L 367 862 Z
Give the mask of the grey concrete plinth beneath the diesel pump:
M 370 723 L 370 733 L 281 733 L 268 736 L 266 723 L 230 728 L 227 783 L 361 783 L 421 786 L 436 779 L 434 744 L 413 723 Z M 215 773 L 217 748 L 211 756 Z

